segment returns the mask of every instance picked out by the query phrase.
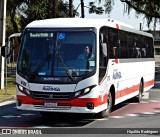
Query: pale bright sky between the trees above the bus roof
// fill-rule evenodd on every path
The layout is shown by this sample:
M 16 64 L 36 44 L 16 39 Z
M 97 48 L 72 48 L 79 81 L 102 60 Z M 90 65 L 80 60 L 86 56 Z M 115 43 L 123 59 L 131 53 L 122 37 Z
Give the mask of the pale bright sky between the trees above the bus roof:
M 88 3 L 94 1 L 94 0 L 84 0 L 84 4 L 85 6 L 88 6 Z M 98 0 L 97 0 L 98 1 Z M 88 13 L 88 9 L 85 8 L 85 18 L 102 18 L 102 19 L 113 19 L 113 20 L 117 20 L 117 21 L 121 21 L 124 22 L 126 24 L 129 24 L 131 26 L 133 26 L 135 29 L 139 29 L 140 28 L 140 23 L 142 23 L 142 30 L 148 30 L 149 28 L 147 27 L 147 21 L 144 18 L 143 15 L 139 16 L 138 18 L 136 17 L 135 11 L 131 10 L 130 15 L 128 15 L 127 13 L 124 13 L 124 5 L 122 2 L 120 2 L 120 0 L 114 0 L 115 4 L 113 6 L 113 9 L 111 11 L 111 14 L 102 14 L 102 15 L 96 15 L 96 14 L 89 14 Z M 80 0 L 74 0 L 73 4 L 75 6 L 75 8 L 77 8 L 77 6 L 79 5 Z M 98 2 L 97 2 L 98 5 Z M 99 6 L 103 6 L 103 4 L 99 5 Z M 79 14 L 81 14 L 81 8 L 78 8 L 78 12 Z M 81 16 L 81 15 L 80 15 Z M 153 25 L 151 25 L 153 26 Z M 150 28 L 151 30 L 153 30 L 153 27 Z M 157 23 L 157 27 L 156 30 L 160 30 L 160 24 Z

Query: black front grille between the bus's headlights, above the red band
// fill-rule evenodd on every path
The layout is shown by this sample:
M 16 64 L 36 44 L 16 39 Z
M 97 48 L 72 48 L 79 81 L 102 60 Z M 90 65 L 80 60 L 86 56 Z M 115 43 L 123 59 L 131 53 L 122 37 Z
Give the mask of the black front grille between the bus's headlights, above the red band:
M 70 100 L 72 92 L 39 92 L 30 91 L 32 98 L 45 100 Z

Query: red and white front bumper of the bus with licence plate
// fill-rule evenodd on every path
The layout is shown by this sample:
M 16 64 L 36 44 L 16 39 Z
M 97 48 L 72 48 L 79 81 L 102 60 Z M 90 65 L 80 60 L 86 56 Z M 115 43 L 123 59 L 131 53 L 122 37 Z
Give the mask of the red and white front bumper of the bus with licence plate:
M 76 98 L 69 101 L 35 100 L 28 96 L 17 96 L 17 109 L 64 113 L 98 113 L 107 108 L 108 96 L 99 98 Z

